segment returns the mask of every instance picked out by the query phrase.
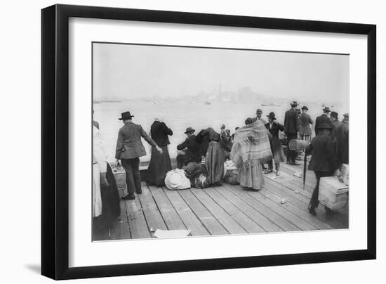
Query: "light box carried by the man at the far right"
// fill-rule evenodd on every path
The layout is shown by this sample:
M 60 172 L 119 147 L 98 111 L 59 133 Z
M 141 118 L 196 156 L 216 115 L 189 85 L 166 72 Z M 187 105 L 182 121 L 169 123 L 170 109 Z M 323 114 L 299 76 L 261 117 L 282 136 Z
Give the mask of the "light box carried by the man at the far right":
M 320 179 L 319 202 L 331 210 L 343 208 L 348 202 L 349 187 L 341 183 L 336 176 Z

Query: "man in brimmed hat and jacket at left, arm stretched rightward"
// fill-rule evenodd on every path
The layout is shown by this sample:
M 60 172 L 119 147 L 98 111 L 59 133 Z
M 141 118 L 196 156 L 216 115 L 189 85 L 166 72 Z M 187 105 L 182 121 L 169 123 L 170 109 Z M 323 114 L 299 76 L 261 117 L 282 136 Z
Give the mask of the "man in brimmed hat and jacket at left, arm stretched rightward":
M 132 117 L 134 117 L 134 115 L 131 115 L 130 112 L 123 112 L 121 114 L 119 120 L 124 122 L 124 126 L 119 129 L 117 147 L 115 150 L 117 167 L 119 167 L 119 160 L 121 160 L 122 167 L 124 167 L 126 172 L 128 195 L 122 198 L 124 200 L 135 199 L 134 191 L 138 194 L 142 193 L 139 166 L 140 157 L 146 155 L 146 150 L 142 144 L 141 137 L 162 154 L 162 149 L 157 146 L 157 143 L 155 143 L 149 135 L 147 135 L 140 124 L 133 123 Z

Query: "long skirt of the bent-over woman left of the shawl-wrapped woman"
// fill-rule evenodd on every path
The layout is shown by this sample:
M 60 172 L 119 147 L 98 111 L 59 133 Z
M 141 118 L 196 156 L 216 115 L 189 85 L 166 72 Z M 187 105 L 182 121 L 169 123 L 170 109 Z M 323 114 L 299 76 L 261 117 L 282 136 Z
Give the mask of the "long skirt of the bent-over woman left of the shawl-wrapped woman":
M 221 183 L 224 179 L 224 151 L 220 143 L 211 141 L 206 152 L 205 165 L 208 170 L 208 181 L 210 184 Z

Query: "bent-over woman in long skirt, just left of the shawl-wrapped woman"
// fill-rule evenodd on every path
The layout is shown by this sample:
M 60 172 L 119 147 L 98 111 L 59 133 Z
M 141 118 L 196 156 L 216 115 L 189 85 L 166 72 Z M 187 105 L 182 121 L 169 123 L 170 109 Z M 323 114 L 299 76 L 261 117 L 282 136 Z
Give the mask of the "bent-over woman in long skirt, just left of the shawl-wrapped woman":
M 218 184 L 222 183 L 224 179 L 224 150 L 220 146 L 220 134 L 213 130 L 213 128 L 203 129 L 199 131 L 199 134 L 196 136 L 197 143 L 203 143 L 208 147 L 202 150 L 205 151 L 205 165 L 208 170 L 208 181 L 209 184 Z

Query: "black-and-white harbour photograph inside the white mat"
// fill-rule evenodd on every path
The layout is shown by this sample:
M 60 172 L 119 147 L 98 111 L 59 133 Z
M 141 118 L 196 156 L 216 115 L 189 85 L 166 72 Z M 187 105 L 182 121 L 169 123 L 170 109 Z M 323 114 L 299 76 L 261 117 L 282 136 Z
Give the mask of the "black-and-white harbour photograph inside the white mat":
M 350 229 L 350 54 L 91 49 L 93 241 Z

